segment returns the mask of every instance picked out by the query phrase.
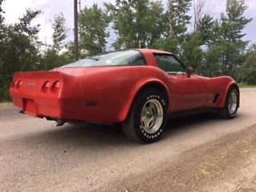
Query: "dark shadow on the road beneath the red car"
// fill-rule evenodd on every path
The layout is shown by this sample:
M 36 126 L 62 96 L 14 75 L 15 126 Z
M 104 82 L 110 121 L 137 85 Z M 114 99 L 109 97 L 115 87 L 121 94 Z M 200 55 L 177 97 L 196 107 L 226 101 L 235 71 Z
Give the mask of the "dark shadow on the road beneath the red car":
M 239 118 L 239 116 L 238 116 Z M 198 114 L 189 117 L 170 119 L 166 124 L 166 131 L 162 140 L 174 135 L 182 134 L 191 129 L 197 129 L 202 123 L 213 123 L 226 121 L 217 118 L 214 114 Z M 46 130 L 34 132 L 33 134 L 22 135 L 18 140 L 26 143 L 46 143 L 52 145 L 64 145 L 73 147 L 90 146 L 92 149 L 98 146 L 140 146 L 141 142 L 134 142 L 122 132 L 120 125 L 103 126 L 87 123 L 70 124 L 66 123 L 59 127 L 46 127 Z M 18 140 L 16 142 L 18 142 Z M 161 141 L 160 141 L 161 142 Z

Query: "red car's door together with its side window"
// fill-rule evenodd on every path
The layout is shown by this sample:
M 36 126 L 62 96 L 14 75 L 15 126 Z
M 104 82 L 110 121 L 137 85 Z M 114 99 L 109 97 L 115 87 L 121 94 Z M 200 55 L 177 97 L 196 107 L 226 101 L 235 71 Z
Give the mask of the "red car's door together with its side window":
M 190 77 L 186 67 L 172 54 L 154 54 L 156 62 L 166 71 L 170 79 L 170 111 L 202 108 L 207 97 L 207 88 L 202 78 L 196 74 Z

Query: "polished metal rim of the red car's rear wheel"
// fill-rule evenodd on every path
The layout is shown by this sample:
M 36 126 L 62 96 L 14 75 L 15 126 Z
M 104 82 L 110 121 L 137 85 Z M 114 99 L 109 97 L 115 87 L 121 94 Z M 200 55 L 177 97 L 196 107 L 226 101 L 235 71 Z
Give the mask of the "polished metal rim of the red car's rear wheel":
M 162 126 L 163 109 L 156 99 L 150 99 L 142 108 L 141 126 L 147 134 L 156 133 Z

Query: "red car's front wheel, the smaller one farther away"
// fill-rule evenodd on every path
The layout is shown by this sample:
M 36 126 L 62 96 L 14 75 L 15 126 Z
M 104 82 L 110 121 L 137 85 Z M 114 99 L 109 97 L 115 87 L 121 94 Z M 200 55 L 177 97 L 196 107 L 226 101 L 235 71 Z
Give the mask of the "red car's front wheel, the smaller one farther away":
M 239 91 L 236 87 L 231 86 L 226 94 L 225 106 L 218 110 L 218 116 L 221 118 L 231 119 L 238 113 Z

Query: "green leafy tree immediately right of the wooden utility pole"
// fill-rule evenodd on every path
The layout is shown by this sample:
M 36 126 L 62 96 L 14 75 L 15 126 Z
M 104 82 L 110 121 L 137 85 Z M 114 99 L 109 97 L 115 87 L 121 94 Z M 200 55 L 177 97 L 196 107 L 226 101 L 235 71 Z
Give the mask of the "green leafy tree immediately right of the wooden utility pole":
M 104 10 L 94 4 L 85 7 L 79 14 L 81 50 L 86 55 L 99 54 L 106 50 L 107 27 L 109 18 Z

